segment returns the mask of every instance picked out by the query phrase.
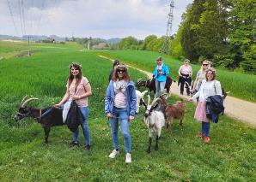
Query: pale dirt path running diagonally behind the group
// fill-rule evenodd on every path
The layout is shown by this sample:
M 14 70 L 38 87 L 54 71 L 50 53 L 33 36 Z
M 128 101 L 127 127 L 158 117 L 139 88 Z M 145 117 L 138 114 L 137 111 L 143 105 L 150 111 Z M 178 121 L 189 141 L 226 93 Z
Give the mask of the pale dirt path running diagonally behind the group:
M 100 56 L 100 57 L 113 62 L 112 59 L 106 56 Z M 130 68 L 134 68 L 129 65 L 127 66 Z M 134 68 L 134 69 L 137 69 L 138 71 L 146 74 L 149 78 L 152 77 L 152 73 L 143 71 L 142 69 L 138 69 L 138 68 Z M 172 94 L 177 95 L 179 97 L 188 98 L 186 96 L 180 96 L 180 87 L 178 87 L 177 82 L 173 83 L 173 85 L 171 86 L 171 92 Z M 241 120 L 242 122 L 248 123 L 250 126 L 256 127 L 256 103 L 250 103 L 250 102 L 241 100 L 239 98 L 228 96 L 224 101 L 224 105 L 225 105 L 225 114 L 235 119 Z

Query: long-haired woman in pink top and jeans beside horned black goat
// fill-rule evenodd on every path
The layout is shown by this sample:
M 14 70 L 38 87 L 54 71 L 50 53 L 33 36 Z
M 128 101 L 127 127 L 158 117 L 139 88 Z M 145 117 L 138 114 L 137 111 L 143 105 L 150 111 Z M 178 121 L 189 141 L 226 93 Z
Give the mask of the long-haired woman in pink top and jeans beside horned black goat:
M 70 76 L 67 81 L 66 93 L 61 102 L 55 104 L 55 107 L 62 106 L 66 101 L 76 101 L 79 109 L 83 115 L 83 123 L 81 125 L 83 136 L 85 138 L 85 147 L 87 150 L 91 149 L 90 135 L 88 131 L 88 97 L 92 95 L 91 86 L 86 77 L 82 76 L 82 66 L 76 62 L 70 64 Z M 71 146 L 79 144 L 78 140 L 79 128 L 73 133 L 73 140 L 70 142 Z

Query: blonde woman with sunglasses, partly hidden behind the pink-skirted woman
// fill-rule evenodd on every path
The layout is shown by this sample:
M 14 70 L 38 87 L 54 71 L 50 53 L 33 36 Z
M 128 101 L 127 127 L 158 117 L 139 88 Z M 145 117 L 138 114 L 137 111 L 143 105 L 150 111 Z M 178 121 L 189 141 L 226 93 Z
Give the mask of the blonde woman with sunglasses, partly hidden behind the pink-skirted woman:
M 198 70 L 197 77 L 193 84 L 192 93 L 195 93 L 199 90 L 200 85 L 202 84 L 202 80 L 206 79 L 205 73 L 208 68 L 210 68 L 210 61 L 204 60 L 201 69 Z

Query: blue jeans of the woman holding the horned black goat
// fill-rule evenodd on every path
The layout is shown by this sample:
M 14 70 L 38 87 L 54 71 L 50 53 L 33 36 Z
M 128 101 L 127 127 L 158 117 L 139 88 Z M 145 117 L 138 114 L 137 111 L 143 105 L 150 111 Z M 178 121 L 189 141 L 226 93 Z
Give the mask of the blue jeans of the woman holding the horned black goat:
M 80 108 L 83 115 L 83 123 L 81 125 L 83 136 L 85 138 L 85 145 L 90 145 L 90 133 L 88 131 L 88 107 Z M 76 132 L 73 132 L 73 141 L 78 142 L 79 128 L 77 128 Z

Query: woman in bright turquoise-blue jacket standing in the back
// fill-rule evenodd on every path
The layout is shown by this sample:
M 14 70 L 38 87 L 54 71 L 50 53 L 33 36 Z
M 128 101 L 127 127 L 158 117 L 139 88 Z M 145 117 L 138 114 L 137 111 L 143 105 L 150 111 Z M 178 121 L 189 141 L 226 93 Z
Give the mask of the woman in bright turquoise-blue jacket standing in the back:
M 158 57 L 153 73 L 153 78 L 155 79 L 155 97 L 159 96 L 160 91 L 165 93 L 164 87 L 169 73 L 170 72 L 168 66 L 162 62 L 162 57 Z

